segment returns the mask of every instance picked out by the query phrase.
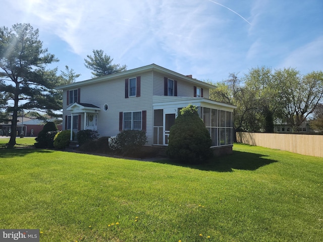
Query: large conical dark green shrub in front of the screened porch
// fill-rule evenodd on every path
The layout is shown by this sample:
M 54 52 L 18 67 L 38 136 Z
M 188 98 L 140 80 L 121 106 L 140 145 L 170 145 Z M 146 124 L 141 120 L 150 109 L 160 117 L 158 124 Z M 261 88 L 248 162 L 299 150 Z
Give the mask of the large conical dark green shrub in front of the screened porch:
M 202 163 L 211 157 L 210 134 L 197 108 L 192 104 L 183 108 L 170 129 L 166 153 L 170 158 L 183 163 Z

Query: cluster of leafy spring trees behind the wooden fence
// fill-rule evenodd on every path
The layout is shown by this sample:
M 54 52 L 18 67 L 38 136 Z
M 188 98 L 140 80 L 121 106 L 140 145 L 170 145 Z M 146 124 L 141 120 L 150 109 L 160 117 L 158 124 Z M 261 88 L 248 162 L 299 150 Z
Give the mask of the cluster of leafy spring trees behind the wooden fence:
M 230 79 L 210 91 L 210 99 L 237 106 L 235 130 L 273 132 L 274 120 L 281 119 L 298 131 L 323 99 L 321 71 L 300 75 L 296 69 L 257 67 L 242 79 Z

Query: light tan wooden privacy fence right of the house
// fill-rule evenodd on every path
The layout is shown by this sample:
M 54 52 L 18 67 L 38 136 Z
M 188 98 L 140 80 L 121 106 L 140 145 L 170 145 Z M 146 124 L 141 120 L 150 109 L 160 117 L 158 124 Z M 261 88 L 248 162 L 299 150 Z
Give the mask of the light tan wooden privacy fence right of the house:
M 323 157 L 323 135 L 237 132 L 237 142 Z

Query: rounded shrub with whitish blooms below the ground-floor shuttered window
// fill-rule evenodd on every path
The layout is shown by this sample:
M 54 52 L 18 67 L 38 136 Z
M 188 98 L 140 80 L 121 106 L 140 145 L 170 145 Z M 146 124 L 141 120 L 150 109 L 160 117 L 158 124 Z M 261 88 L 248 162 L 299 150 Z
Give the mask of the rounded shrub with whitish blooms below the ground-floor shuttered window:
M 115 138 L 109 139 L 109 147 L 111 150 L 120 150 L 123 155 L 133 155 L 143 145 L 147 143 L 147 136 L 141 130 L 124 130 Z

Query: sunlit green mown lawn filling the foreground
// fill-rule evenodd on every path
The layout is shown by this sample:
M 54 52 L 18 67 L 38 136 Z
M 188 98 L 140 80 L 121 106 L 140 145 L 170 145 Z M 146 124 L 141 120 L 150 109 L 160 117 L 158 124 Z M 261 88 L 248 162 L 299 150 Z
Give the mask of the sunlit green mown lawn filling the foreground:
M 41 242 L 323 238 L 323 158 L 235 144 L 182 166 L 0 149 L 0 167 L 0 228 L 40 229 Z

